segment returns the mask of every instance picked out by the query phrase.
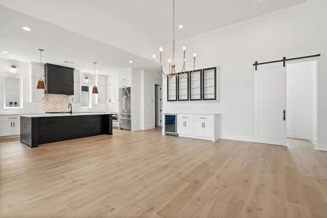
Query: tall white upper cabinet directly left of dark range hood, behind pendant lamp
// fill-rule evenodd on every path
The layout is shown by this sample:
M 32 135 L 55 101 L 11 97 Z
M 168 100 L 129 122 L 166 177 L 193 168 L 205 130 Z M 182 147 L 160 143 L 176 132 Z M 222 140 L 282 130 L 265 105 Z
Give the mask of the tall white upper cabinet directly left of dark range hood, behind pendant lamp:
M 31 62 L 31 78 L 30 78 L 30 102 L 44 103 L 44 90 L 36 89 L 38 80 L 44 80 L 44 65 L 40 63 Z

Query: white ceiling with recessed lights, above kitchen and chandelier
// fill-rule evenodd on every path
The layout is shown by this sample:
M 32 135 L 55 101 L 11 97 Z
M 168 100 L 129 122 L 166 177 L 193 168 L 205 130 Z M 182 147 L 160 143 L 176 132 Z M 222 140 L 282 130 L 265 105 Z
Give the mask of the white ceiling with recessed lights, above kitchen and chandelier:
M 176 0 L 176 39 L 290 7 L 305 0 Z M 127 67 L 151 69 L 152 54 L 172 40 L 172 1 L 0 0 L 2 58 L 44 61 L 115 74 Z M 11 9 L 10 9 L 11 8 Z M 14 10 L 12 10 L 14 9 Z M 183 29 L 178 29 L 182 24 Z M 22 31 L 28 26 L 31 32 Z M 75 64 L 64 64 L 63 61 Z M 133 64 L 128 61 L 133 60 Z

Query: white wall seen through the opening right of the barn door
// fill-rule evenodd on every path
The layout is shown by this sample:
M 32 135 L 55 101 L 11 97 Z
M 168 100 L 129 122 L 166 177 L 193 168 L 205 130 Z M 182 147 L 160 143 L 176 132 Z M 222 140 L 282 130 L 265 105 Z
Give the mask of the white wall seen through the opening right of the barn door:
M 316 62 L 287 65 L 287 137 L 316 141 Z

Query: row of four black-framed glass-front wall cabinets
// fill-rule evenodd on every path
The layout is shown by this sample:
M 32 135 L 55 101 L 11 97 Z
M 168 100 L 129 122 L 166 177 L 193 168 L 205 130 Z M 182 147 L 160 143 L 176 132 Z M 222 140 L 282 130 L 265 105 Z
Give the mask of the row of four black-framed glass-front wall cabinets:
M 179 78 L 175 75 L 172 78 L 168 77 L 167 101 L 219 100 L 218 70 L 218 67 L 212 67 L 180 73 Z M 191 76 L 187 77 L 189 74 Z

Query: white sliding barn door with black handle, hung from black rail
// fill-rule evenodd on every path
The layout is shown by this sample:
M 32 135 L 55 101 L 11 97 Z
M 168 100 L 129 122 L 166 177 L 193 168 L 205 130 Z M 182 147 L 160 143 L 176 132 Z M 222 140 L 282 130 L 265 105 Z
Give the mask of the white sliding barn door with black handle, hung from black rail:
M 266 64 L 254 70 L 254 141 L 286 146 L 286 67 Z

